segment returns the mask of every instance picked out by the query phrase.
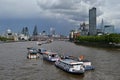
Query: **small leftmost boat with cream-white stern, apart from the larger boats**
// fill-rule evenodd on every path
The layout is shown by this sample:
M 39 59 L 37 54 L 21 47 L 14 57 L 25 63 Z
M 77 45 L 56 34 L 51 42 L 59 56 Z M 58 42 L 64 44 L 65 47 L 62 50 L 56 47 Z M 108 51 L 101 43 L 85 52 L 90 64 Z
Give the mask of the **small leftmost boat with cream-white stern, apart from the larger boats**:
M 34 48 L 29 48 L 28 49 L 27 58 L 28 59 L 38 59 L 39 58 L 39 54 L 38 54 L 37 50 L 34 49 Z

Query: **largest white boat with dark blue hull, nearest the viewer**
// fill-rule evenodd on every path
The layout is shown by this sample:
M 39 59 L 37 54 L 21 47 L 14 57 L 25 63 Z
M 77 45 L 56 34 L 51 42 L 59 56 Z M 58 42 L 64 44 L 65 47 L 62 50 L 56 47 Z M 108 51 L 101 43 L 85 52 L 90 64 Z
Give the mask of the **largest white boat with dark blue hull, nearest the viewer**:
M 76 61 L 73 59 L 60 59 L 55 62 L 55 66 L 73 74 L 84 74 L 85 68 L 83 62 Z

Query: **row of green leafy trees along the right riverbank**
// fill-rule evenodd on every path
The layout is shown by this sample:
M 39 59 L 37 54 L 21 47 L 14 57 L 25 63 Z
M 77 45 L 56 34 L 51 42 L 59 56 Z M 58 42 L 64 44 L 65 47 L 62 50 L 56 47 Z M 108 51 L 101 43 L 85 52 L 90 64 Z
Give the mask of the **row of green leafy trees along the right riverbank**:
M 120 34 L 78 36 L 75 40 L 78 42 L 120 43 Z

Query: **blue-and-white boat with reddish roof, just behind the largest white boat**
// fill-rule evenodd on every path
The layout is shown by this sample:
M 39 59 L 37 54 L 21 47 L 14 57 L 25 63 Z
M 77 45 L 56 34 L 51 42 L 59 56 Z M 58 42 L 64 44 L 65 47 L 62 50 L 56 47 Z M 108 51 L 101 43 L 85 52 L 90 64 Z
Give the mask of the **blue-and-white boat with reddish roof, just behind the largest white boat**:
M 46 51 L 43 53 L 43 59 L 51 62 L 55 62 L 60 59 L 57 53 Z

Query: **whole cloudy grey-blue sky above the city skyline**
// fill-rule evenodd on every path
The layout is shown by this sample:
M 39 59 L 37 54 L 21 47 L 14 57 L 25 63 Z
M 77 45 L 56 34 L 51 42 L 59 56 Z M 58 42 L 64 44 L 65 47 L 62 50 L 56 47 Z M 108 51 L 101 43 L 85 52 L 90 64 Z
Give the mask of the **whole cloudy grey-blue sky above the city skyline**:
M 89 9 L 97 8 L 97 25 L 103 18 L 104 24 L 115 25 L 120 32 L 120 0 L 0 0 L 0 32 L 11 29 L 21 32 L 28 27 L 30 33 L 35 25 L 38 31 L 53 27 L 56 33 L 68 34 L 88 23 Z

